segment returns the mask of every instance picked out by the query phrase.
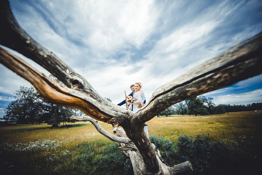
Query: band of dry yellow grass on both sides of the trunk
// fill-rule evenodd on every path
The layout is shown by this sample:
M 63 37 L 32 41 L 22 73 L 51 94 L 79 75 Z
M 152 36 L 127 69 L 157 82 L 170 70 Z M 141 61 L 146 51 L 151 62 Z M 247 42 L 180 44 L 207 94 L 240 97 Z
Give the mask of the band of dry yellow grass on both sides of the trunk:
M 112 125 L 99 122 L 112 133 Z M 154 117 L 148 121 L 149 134 L 162 135 L 165 139 L 176 141 L 180 135 L 204 133 L 214 139 L 234 140 L 241 135 L 261 135 L 262 111 L 254 113 L 235 112 L 220 115 L 173 115 L 169 117 Z M 29 142 L 38 139 L 67 140 L 71 147 L 81 142 L 107 139 L 99 134 L 90 122 L 76 122 L 72 127 L 51 128 L 50 125 L 12 125 L 0 127 L 1 143 Z

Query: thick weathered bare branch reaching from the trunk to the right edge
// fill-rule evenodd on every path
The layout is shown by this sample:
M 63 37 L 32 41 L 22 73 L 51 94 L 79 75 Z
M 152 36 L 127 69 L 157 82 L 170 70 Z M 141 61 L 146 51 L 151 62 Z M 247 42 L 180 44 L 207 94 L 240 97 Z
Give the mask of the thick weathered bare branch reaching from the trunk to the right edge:
M 262 73 L 262 32 L 158 88 L 134 115 L 144 123 L 168 106 Z

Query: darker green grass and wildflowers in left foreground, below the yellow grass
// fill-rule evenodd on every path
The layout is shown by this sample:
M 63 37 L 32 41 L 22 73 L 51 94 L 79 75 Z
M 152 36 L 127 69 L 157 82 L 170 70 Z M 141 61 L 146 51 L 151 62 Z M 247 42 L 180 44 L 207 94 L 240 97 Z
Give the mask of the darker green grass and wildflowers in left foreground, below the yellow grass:
M 0 151 L 0 155 L 5 157 L 4 160 L 0 160 L 3 165 L 0 172 L 3 174 L 133 175 L 131 161 L 119 151 L 117 143 L 101 139 L 80 143 L 71 150 L 61 150 L 61 146 L 51 140 L 21 143 L 16 147 L 11 144 L 0 144 L 3 150 Z M 20 156 L 17 157 L 17 154 Z

